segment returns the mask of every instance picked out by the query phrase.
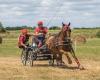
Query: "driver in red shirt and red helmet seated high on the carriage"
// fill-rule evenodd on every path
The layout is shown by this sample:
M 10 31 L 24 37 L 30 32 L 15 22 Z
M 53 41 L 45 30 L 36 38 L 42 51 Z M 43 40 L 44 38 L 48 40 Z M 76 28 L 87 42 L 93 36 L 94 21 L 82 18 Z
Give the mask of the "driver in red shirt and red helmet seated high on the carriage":
M 43 45 L 43 41 L 48 32 L 48 29 L 43 26 L 43 21 L 38 22 L 38 26 L 34 30 L 35 38 L 38 40 L 38 47 L 40 48 Z

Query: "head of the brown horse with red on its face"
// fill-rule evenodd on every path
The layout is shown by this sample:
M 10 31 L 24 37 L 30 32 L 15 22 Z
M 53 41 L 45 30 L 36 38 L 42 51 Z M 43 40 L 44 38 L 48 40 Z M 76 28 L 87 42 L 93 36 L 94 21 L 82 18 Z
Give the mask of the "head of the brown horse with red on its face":
M 62 32 L 63 32 L 65 37 L 71 36 L 70 22 L 68 24 L 65 24 L 62 22 Z

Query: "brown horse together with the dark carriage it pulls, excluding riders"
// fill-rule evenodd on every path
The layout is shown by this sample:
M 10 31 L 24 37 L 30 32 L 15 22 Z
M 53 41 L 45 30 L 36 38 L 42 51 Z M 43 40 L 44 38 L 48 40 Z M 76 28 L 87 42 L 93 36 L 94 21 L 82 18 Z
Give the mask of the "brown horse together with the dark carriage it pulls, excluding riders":
M 68 59 L 69 63 L 72 63 L 71 58 L 68 53 L 74 58 L 75 62 L 79 69 L 84 69 L 81 66 L 78 58 L 75 55 L 74 48 L 71 41 L 71 29 L 70 23 L 62 23 L 62 29 L 57 35 L 50 36 L 43 42 L 42 47 L 37 46 L 37 40 L 33 38 L 32 45 L 28 46 L 27 49 L 22 51 L 21 60 L 23 65 L 29 63 L 30 66 L 33 66 L 33 62 L 36 60 L 48 60 L 49 65 L 54 65 L 54 60 L 56 59 L 57 65 L 60 66 L 63 63 L 62 55 L 64 54 Z M 47 47 L 48 46 L 48 47 Z

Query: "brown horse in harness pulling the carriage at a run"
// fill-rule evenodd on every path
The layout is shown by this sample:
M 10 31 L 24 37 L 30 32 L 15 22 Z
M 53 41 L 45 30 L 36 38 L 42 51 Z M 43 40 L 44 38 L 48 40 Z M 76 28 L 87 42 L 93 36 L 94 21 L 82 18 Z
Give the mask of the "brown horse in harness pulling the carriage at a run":
M 56 60 L 58 65 L 61 65 L 61 63 L 63 63 L 62 61 L 63 54 L 67 57 L 68 62 L 72 63 L 68 55 L 68 52 L 70 52 L 75 62 L 77 63 L 78 68 L 83 69 L 72 48 L 71 44 L 72 42 L 70 37 L 71 37 L 70 23 L 69 24 L 62 23 L 61 31 L 57 35 L 48 37 L 48 39 L 46 40 L 46 45 L 51 50 L 51 52 L 54 55 L 56 55 Z

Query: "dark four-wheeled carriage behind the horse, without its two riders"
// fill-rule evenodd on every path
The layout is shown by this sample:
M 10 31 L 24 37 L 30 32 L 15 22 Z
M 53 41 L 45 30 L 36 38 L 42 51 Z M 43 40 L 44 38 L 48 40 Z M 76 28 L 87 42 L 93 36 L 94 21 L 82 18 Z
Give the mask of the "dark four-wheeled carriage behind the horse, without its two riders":
M 26 49 L 22 50 L 21 61 L 24 66 L 26 66 L 26 64 L 29 64 L 32 67 L 34 61 L 44 60 L 47 60 L 50 66 L 54 65 L 54 55 L 51 54 L 45 43 L 42 45 L 42 47 L 39 48 L 37 46 L 35 38 L 33 38 L 32 44 L 29 45 Z

